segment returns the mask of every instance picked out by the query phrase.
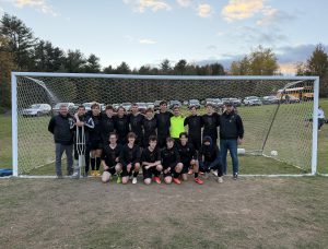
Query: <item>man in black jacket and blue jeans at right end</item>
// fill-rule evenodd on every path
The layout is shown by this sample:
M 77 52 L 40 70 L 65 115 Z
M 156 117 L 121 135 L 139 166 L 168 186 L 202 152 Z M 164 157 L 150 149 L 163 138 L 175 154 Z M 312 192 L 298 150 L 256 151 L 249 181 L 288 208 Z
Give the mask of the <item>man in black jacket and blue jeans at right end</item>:
M 223 174 L 226 175 L 227 150 L 233 162 L 233 177 L 238 177 L 238 155 L 237 147 L 244 138 L 244 126 L 239 115 L 235 112 L 232 103 L 225 105 L 225 111 L 220 116 L 220 150 L 223 165 Z

